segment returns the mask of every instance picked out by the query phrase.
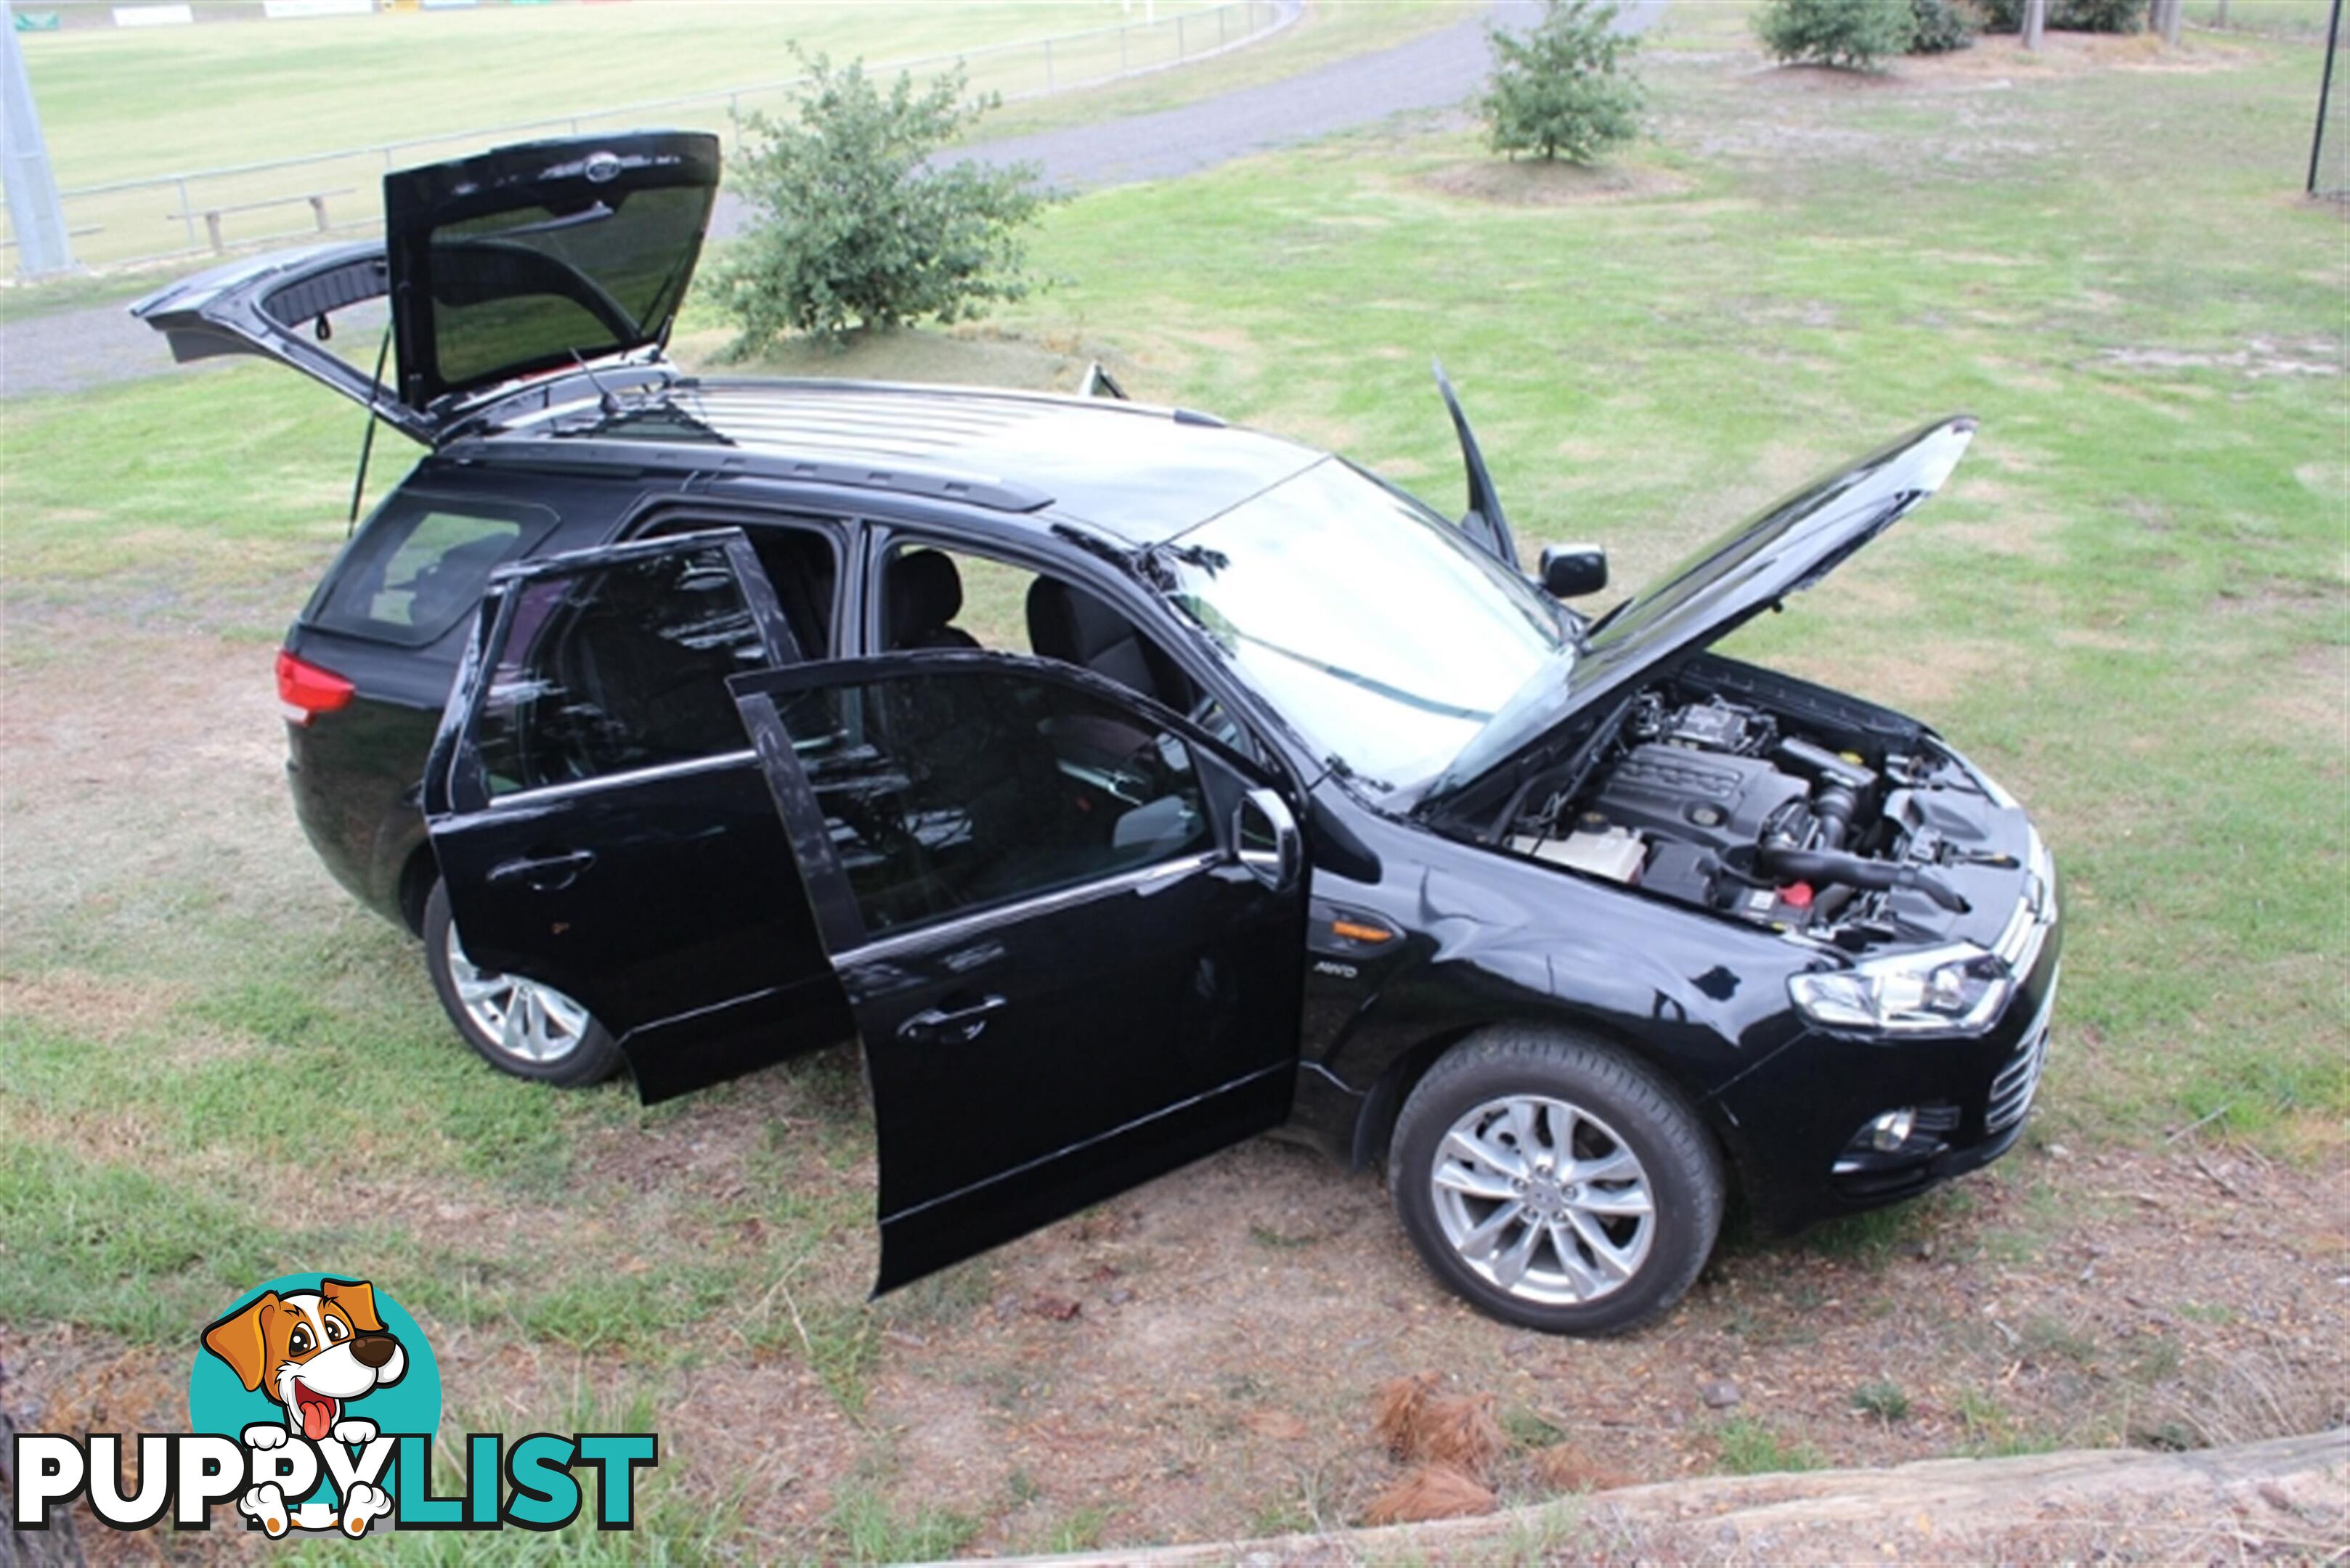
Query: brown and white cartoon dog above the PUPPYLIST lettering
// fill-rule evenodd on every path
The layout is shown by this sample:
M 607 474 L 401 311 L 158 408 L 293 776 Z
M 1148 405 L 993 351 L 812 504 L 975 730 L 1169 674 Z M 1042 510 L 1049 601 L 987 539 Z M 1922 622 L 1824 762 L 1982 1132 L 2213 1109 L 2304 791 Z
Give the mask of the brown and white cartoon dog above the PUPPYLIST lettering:
M 364 1279 L 322 1279 L 317 1291 L 284 1295 L 263 1291 L 204 1328 L 204 1349 L 237 1373 L 247 1394 L 268 1389 L 284 1410 L 284 1425 L 244 1429 L 244 1446 L 254 1450 L 282 1448 L 294 1434 L 313 1443 L 374 1441 L 376 1422 L 348 1408 L 409 1371 L 407 1349 L 383 1328 L 376 1288 Z M 320 1502 L 289 1507 L 284 1490 L 268 1481 L 237 1500 L 237 1509 L 273 1537 L 287 1528 L 341 1528 L 360 1537 L 390 1507 L 383 1488 L 364 1481 L 348 1488 L 341 1512 Z

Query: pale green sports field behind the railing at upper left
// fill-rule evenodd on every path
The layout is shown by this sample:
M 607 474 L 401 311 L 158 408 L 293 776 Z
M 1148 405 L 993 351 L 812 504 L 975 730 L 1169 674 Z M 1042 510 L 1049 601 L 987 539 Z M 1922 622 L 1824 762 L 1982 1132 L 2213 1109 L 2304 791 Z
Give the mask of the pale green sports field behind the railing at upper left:
M 400 167 L 475 153 L 503 139 L 578 129 L 667 125 L 733 132 L 728 103 L 667 99 L 740 94 L 743 110 L 776 113 L 778 89 L 799 75 L 790 45 L 874 66 L 1027 45 L 1130 24 L 1121 40 L 1095 35 L 980 54 L 978 92 L 1008 96 L 1100 80 L 1133 66 L 1213 47 L 1227 21 L 1194 14 L 1210 0 L 1163 0 L 1159 26 L 1107 0 L 665 0 L 660 5 L 496 5 L 461 12 L 378 12 L 275 24 L 193 28 L 73 28 L 28 33 L 26 68 L 47 129 L 66 223 L 85 233 L 75 256 L 108 263 L 204 244 L 202 214 L 223 214 L 230 247 L 298 242 L 315 219 L 301 197 L 324 200 L 336 226 L 378 216 L 378 143 L 409 143 Z M 1177 16 L 1194 16 L 1177 38 Z M 1361 31 L 1361 28 L 1356 28 Z M 1347 33 L 1342 28 L 1342 33 Z M 1243 52 L 1246 54 L 1246 52 Z M 942 68 L 942 66 L 940 66 Z M 1182 75 L 1182 73 L 1175 73 Z M 1065 110 L 1081 113 L 1081 110 Z M 515 129 L 529 127 L 529 129 Z M 80 186 L 237 169 L 322 158 L 296 169 L 212 174 L 188 181 L 193 221 L 176 216 L 176 188 L 70 195 Z M 254 207 L 258 205 L 258 207 Z

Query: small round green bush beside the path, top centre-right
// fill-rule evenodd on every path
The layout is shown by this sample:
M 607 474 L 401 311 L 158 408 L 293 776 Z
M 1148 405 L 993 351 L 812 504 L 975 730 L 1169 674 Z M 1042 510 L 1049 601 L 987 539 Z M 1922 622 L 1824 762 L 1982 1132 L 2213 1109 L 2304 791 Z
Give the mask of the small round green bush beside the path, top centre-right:
M 1640 134 L 1640 40 L 1617 33 L 1614 14 L 1596 0 L 1546 0 L 1530 33 L 1490 28 L 1495 66 L 1478 108 L 1495 153 L 1589 165 Z

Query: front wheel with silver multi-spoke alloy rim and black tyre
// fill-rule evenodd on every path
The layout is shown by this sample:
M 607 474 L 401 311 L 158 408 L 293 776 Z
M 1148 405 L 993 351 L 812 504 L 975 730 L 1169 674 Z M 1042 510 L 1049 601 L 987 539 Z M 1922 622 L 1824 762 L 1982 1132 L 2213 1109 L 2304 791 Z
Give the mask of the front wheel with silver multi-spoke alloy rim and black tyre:
M 1560 1030 L 1483 1030 L 1438 1058 L 1396 1117 L 1386 1178 L 1429 1269 L 1542 1333 L 1654 1319 L 1723 1225 L 1720 1157 L 1687 1103 Z

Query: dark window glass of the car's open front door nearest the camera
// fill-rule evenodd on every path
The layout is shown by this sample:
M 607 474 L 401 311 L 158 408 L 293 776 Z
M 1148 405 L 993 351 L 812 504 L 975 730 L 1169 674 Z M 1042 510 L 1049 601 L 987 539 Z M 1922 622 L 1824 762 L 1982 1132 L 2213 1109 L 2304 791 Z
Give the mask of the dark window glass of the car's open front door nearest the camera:
M 1053 679 L 926 670 L 778 712 L 874 936 L 1215 844 L 1191 748 Z

